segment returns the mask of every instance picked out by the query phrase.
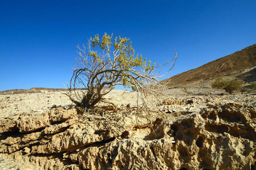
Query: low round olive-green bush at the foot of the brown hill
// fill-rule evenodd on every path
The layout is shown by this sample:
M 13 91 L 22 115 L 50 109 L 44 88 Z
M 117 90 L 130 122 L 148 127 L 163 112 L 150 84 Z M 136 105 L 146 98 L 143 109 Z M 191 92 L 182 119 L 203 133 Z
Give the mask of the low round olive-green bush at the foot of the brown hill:
M 212 83 L 213 88 L 224 89 L 229 94 L 232 94 L 234 90 L 239 90 L 242 88 L 242 82 L 236 79 L 226 79 L 218 78 Z

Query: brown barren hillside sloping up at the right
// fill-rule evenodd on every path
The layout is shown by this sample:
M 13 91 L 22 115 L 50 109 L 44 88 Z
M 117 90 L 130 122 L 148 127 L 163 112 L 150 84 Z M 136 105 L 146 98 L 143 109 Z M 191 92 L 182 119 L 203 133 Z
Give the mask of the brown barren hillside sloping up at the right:
M 170 87 L 184 86 L 194 82 L 241 73 L 256 65 L 256 44 L 248 46 L 236 53 L 208 62 L 184 73 L 172 76 Z M 251 73 L 255 73 L 251 72 Z M 250 77 L 253 77 L 252 75 Z

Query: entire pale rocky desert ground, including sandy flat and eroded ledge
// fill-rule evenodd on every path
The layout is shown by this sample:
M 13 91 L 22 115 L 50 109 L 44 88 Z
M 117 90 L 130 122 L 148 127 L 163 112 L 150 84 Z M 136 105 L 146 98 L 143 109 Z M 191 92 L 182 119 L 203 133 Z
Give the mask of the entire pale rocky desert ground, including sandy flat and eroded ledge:
M 85 113 L 61 92 L 0 95 L 0 169 L 255 169 L 255 92 L 187 89 L 150 112 L 130 91 Z

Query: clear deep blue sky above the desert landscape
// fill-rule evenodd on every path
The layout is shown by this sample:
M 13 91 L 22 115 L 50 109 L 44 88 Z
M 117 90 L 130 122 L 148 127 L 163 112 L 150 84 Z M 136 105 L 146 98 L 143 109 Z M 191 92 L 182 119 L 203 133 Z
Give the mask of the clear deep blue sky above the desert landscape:
M 129 37 L 136 52 L 164 62 L 167 76 L 256 43 L 256 1 L 0 1 L 0 91 L 63 88 L 76 45 L 104 32 Z

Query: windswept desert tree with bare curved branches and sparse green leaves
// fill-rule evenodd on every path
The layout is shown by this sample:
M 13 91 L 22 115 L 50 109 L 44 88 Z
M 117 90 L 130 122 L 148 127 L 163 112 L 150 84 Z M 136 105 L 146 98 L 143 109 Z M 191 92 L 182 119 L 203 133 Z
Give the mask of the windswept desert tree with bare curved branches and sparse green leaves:
M 176 62 L 177 54 L 163 65 L 151 63 L 135 53 L 130 39 L 107 33 L 95 35 L 87 46 L 77 46 L 79 58 L 65 95 L 78 107 L 93 108 L 104 96 L 121 84 L 135 89 L 139 94 L 159 94 L 168 82 L 159 81 L 160 72 L 168 66 L 168 73 Z M 141 99 L 144 99 L 141 97 Z M 144 101 L 144 100 L 143 100 Z M 144 102 L 143 102 L 144 103 Z M 144 103 L 146 104 L 146 103 Z

